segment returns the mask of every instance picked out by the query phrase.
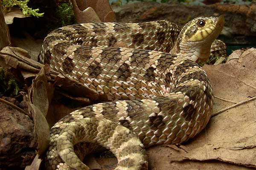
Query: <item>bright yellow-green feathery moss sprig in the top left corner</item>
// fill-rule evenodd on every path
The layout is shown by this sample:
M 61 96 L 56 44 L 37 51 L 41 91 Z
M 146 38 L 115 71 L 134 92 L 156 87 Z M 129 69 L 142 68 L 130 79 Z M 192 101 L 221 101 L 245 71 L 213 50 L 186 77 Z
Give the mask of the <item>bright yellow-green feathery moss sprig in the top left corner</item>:
M 35 17 L 42 17 L 44 13 L 38 13 L 39 9 L 32 9 L 27 6 L 29 0 L 2 0 L 1 6 L 3 8 L 3 12 L 6 13 L 13 6 L 19 6 L 24 15 L 33 15 Z

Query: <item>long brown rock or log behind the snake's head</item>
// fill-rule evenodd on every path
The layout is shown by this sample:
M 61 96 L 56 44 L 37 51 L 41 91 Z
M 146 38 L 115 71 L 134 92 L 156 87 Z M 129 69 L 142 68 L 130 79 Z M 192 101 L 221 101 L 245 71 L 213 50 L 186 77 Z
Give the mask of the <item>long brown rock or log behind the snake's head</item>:
M 140 2 L 113 7 L 117 22 L 145 22 L 169 20 L 183 26 L 199 16 L 225 17 L 225 27 L 231 35 L 256 36 L 256 4 L 213 4 L 208 6 L 185 6 L 180 3 Z M 230 35 L 230 36 L 231 36 Z

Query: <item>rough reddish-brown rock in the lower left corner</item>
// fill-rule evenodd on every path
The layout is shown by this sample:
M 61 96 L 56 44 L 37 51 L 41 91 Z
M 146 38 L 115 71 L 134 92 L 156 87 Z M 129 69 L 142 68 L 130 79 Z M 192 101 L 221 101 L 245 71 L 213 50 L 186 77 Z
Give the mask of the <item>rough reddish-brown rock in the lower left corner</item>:
M 16 99 L 4 99 L 21 108 L 24 106 Z M 35 157 L 37 143 L 33 121 L 3 102 L 0 102 L 0 111 L 0 167 L 3 170 L 24 169 Z

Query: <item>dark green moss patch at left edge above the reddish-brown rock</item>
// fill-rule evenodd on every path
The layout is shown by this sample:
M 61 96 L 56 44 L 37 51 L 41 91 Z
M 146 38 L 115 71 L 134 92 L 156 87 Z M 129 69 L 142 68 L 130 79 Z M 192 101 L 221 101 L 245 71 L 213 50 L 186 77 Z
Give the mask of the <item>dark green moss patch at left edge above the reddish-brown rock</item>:
M 7 70 L 0 68 L 0 93 L 5 96 L 17 96 L 20 88 L 12 76 Z

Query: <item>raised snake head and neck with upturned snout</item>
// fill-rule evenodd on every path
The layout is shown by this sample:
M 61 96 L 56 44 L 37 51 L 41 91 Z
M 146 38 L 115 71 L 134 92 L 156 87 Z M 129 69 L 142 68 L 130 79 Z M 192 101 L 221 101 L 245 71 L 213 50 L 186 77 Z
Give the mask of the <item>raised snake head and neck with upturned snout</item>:
M 176 53 L 198 61 L 210 56 L 212 42 L 224 27 L 224 17 L 197 17 L 182 28 L 176 42 Z

